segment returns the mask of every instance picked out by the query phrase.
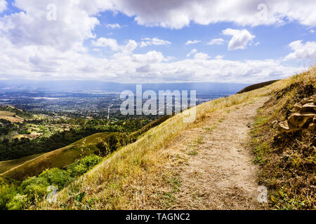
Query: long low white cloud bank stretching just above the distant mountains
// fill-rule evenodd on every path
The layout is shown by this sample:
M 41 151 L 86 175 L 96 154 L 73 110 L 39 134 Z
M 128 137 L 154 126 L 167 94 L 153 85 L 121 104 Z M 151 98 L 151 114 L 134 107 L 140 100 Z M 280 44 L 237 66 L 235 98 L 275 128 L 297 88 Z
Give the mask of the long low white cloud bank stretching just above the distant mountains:
M 110 59 L 48 46 L 18 48 L 0 37 L 0 78 L 111 80 L 122 83 L 230 82 L 256 83 L 302 71 L 277 60 L 211 59 L 196 52 L 192 59 L 168 61 L 162 52 L 132 54 L 136 41 L 121 45 Z M 12 66 L 14 64 L 14 66 Z M 140 71 L 141 73 L 140 75 Z

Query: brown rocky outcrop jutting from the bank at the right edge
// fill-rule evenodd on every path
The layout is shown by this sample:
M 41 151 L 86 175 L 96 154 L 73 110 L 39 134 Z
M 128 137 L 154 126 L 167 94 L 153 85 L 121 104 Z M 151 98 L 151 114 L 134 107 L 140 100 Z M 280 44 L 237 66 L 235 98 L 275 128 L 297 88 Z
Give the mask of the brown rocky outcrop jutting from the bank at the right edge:
M 282 133 L 292 136 L 295 132 L 308 129 L 316 131 L 316 94 L 312 97 L 304 98 L 298 104 L 294 105 L 294 113 L 289 116 L 288 120 L 279 123 L 278 128 Z M 274 123 L 275 124 L 275 123 Z

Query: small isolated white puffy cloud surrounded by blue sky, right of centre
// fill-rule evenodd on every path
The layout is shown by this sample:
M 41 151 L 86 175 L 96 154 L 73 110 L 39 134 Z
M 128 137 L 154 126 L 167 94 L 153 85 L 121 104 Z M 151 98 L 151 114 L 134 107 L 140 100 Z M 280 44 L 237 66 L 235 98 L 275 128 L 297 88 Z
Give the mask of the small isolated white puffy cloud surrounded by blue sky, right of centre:
M 228 50 L 245 49 L 249 41 L 252 41 L 256 36 L 249 33 L 246 29 L 225 29 L 224 35 L 232 36 L 230 43 L 228 44 Z

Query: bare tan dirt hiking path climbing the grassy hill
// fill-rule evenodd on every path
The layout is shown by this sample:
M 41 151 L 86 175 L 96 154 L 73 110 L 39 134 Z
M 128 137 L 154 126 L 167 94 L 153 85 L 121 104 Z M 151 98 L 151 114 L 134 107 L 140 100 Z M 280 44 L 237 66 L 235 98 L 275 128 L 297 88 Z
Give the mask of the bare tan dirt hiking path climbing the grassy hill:
M 178 180 L 171 209 L 258 209 L 258 167 L 247 148 L 260 97 L 212 113 L 201 127 L 189 130 L 169 149 L 185 157 L 171 164 Z

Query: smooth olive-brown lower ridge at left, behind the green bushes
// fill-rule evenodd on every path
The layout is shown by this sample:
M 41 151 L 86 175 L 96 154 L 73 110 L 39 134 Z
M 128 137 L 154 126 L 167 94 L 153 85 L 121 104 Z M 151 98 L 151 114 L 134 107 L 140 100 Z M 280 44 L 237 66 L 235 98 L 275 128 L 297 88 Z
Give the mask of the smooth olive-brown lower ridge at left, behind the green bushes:
M 113 137 L 115 141 L 115 138 L 119 136 L 125 137 L 126 139 L 124 139 L 124 141 L 127 142 L 135 141 L 142 134 L 144 134 L 151 128 L 156 127 L 157 125 L 160 125 L 171 117 L 172 116 L 164 116 L 162 118 L 159 118 L 158 120 L 154 120 L 152 123 L 145 125 L 145 127 L 141 128 L 137 132 L 133 132 L 129 136 L 126 135 L 126 137 L 124 136 L 124 134 L 119 134 L 117 132 L 98 133 L 80 139 L 79 141 L 76 141 L 69 146 L 58 148 L 55 151 L 40 153 L 37 155 L 30 155 L 25 158 L 19 158 L 17 160 L 0 162 L 0 176 L 4 176 L 9 179 L 15 179 L 17 181 L 23 181 L 28 177 L 41 174 L 41 172 L 44 172 L 44 170 L 46 169 L 64 169 L 79 158 L 97 153 L 97 151 L 99 150 L 97 148 L 97 144 L 100 141 L 112 141 Z M 119 141 L 121 141 L 121 139 L 119 139 Z

